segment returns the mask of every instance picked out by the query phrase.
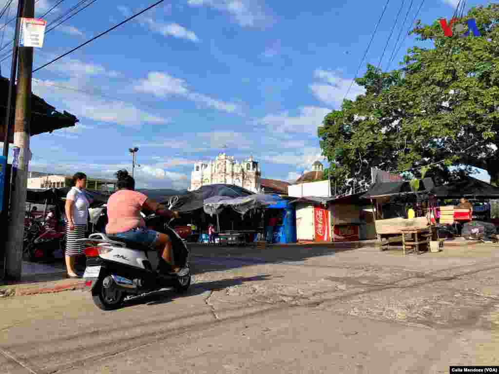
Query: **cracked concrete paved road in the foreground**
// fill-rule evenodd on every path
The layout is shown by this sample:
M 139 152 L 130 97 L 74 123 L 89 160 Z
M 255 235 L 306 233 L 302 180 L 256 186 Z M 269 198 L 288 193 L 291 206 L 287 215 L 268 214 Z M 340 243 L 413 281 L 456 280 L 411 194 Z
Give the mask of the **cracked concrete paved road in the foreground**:
M 114 312 L 82 291 L 0 300 L 0 372 L 419 374 L 499 365 L 498 249 L 406 257 L 205 249 L 181 297 L 159 292 Z

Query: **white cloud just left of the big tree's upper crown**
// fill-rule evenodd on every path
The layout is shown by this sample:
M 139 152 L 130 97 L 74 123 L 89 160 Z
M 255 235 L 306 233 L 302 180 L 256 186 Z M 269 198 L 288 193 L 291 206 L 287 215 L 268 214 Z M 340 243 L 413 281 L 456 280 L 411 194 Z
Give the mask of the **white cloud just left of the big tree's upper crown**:
M 309 87 L 315 97 L 326 104 L 340 107 L 350 85 L 352 85 L 352 88 L 346 97 L 347 99 L 353 100 L 358 95 L 365 93 L 365 89 L 363 87 L 359 86 L 355 82 L 352 84 L 352 79 L 342 78 L 339 71 L 319 69 L 315 70 L 314 75 L 321 82 L 313 83 Z

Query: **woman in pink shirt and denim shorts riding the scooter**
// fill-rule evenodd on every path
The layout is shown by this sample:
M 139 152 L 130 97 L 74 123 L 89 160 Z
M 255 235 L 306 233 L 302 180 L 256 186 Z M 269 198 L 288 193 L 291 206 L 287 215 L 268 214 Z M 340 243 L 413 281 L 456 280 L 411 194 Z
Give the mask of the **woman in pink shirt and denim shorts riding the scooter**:
M 109 197 L 107 202 L 106 233 L 157 250 L 159 257 L 163 259 L 163 261 L 160 259 L 158 265 L 159 272 L 181 275 L 184 269 L 181 270 L 174 264 L 170 237 L 148 229 L 140 214 L 142 209 L 146 209 L 166 218 L 178 218 L 179 212 L 168 210 L 145 194 L 135 191 L 135 180 L 128 175 L 126 170 L 118 171 L 116 177 L 118 190 Z

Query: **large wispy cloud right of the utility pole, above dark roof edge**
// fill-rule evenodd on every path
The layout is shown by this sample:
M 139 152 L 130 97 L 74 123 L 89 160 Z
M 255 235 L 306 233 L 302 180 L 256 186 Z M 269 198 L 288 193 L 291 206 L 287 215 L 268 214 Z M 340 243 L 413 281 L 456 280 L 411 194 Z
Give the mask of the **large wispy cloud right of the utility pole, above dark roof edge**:
M 168 119 L 150 114 L 137 108 L 132 103 L 105 99 L 83 92 L 54 89 L 55 86 L 79 88 L 79 82 L 33 80 L 33 93 L 54 103 L 59 111 L 67 110 L 81 121 L 88 118 L 94 121 L 116 123 L 122 126 L 140 127 L 143 123 L 163 124 Z

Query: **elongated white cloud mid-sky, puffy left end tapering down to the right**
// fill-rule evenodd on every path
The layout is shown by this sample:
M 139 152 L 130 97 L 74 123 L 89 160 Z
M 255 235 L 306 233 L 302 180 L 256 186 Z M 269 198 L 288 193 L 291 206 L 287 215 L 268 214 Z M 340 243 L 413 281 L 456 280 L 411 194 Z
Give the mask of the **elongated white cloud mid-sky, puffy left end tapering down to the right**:
M 147 79 L 141 79 L 134 87 L 138 92 L 152 93 L 156 97 L 180 96 L 194 102 L 203 103 L 227 113 L 240 113 L 239 105 L 227 103 L 209 96 L 191 91 L 182 79 L 172 77 L 167 73 L 150 72 Z

